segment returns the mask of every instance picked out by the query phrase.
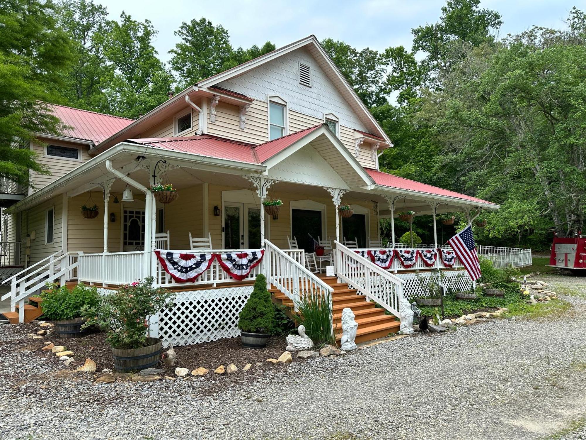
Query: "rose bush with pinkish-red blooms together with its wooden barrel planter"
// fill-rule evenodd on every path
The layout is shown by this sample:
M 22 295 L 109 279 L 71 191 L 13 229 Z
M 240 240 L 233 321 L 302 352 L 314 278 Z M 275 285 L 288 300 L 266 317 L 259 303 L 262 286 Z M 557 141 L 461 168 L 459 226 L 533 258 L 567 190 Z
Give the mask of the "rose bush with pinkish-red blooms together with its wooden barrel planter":
M 153 277 L 122 285 L 100 296 L 95 307 L 82 310 L 85 326 L 97 324 L 107 332 L 114 370 L 118 373 L 154 367 L 161 360 L 161 339 L 147 337 L 149 318 L 162 309 L 171 309 L 175 293 L 152 286 Z

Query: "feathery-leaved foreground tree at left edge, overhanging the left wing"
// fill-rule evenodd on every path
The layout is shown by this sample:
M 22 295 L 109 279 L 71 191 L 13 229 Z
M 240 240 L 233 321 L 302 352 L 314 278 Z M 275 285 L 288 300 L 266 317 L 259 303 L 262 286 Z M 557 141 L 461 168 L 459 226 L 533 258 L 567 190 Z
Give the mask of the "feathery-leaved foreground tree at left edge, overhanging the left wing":
M 29 170 L 47 170 L 20 147 L 34 133 L 60 134 L 60 121 L 45 103 L 59 100 L 54 90 L 73 57 L 52 2 L 5 0 L 0 28 L 0 177 L 26 184 Z

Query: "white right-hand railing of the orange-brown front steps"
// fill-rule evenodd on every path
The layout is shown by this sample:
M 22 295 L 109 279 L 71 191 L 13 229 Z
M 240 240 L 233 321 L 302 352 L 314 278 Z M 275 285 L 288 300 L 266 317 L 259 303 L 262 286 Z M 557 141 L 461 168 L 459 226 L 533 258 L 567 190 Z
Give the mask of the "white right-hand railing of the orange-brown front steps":
M 334 243 L 336 244 L 334 259 L 338 278 L 358 290 L 367 299 L 400 317 L 398 308 L 403 299 L 404 280 L 379 268 L 372 261 L 358 255 L 339 241 L 335 240 Z

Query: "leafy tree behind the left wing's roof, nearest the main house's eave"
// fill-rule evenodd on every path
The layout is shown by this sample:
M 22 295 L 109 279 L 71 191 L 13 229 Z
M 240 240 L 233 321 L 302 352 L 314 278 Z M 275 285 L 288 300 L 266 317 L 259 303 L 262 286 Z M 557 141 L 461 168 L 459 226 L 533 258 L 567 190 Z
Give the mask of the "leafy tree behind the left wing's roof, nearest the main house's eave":
M 110 23 L 111 31 L 104 38 L 104 55 L 115 70 L 105 77 L 100 109 L 137 118 L 168 99 L 173 77 L 156 57 L 151 22 L 135 21 L 124 12 L 120 19 Z

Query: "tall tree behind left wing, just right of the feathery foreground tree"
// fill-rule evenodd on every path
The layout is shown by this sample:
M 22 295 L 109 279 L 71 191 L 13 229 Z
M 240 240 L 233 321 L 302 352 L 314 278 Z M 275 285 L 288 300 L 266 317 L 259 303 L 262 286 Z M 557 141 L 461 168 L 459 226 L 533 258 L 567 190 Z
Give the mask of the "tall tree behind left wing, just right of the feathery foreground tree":
M 91 0 L 63 0 L 57 13 L 76 57 L 61 93 L 74 107 L 97 109 L 105 87 L 103 80 L 114 70 L 104 55 L 104 36 L 111 29 L 107 10 Z

